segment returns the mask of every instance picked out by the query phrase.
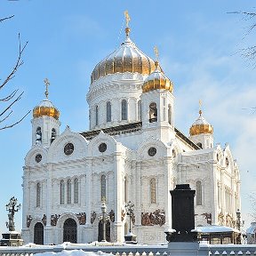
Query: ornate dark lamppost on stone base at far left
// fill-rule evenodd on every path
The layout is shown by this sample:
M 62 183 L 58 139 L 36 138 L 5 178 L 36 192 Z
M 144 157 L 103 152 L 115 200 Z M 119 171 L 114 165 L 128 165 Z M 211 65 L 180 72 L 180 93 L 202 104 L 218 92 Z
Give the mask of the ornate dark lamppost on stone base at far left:
M 0 241 L 1 246 L 20 246 L 23 245 L 23 240 L 21 239 L 20 233 L 15 231 L 14 225 L 14 214 L 20 210 L 20 204 L 18 204 L 17 198 L 12 196 L 9 204 L 6 204 L 6 211 L 8 211 L 8 219 L 6 222 L 6 228 L 9 232 L 3 233 L 3 239 Z

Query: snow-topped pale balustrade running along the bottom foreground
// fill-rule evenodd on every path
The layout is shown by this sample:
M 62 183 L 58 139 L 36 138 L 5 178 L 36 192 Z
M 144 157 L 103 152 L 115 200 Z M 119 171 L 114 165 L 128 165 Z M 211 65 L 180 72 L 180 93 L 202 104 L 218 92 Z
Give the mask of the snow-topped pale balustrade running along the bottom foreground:
M 198 244 L 170 243 L 164 245 L 139 244 L 70 244 L 36 245 L 20 247 L 0 247 L 0 256 L 33 256 L 42 252 L 62 252 L 63 250 L 83 250 L 84 252 L 106 252 L 116 256 L 198 256 L 256 255 L 256 244 Z

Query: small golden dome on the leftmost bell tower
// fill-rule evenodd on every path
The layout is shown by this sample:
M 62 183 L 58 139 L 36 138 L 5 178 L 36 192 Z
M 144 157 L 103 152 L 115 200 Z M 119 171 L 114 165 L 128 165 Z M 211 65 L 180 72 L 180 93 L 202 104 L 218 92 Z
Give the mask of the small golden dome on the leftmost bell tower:
M 33 109 L 33 117 L 40 117 L 40 116 L 52 116 L 56 120 L 59 119 L 60 111 L 55 108 L 52 102 L 48 99 L 43 100 L 39 106 L 36 106 Z

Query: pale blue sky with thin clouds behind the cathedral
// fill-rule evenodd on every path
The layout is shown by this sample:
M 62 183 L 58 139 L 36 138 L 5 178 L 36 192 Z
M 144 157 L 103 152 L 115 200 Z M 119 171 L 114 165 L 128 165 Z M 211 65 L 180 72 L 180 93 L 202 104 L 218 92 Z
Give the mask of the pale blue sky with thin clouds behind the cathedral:
M 248 195 L 256 191 L 256 115 L 244 108 L 256 106 L 256 74 L 240 49 L 256 42 L 256 30 L 244 37 L 252 20 L 228 12 L 256 12 L 254 7 L 253 0 L 1 1 L 0 17 L 15 16 L 0 23 L 0 78 L 16 60 L 18 33 L 21 42 L 28 40 L 24 65 L 4 91 L 24 91 L 12 120 L 44 100 L 43 80 L 48 77 L 49 98 L 60 110 L 61 132 L 66 125 L 76 132 L 88 130 L 85 96 L 91 72 L 122 43 L 128 10 L 132 41 L 152 58 L 157 45 L 160 64 L 174 83 L 177 128 L 188 135 L 201 99 L 203 115 L 214 127 L 215 143 L 230 145 L 240 166 L 242 214 L 248 226 Z M 4 205 L 12 196 L 22 204 L 22 166 L 31 147 L 31 117 L 0 132 L 0 233 L 6 230 Z M 21 211 L 15 223 L 20 230 Z

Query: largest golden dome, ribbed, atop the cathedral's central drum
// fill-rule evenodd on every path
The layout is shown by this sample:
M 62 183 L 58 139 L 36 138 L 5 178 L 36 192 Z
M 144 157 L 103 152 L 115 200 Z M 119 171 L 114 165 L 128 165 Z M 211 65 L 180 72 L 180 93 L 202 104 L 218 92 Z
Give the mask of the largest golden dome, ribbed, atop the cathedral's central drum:
M 102 76 L 115 73 L 140 73 L 149 75 L 155 68 L 154 60 L 132 42 L 129 37 L 130 28 L 125 28 L 126 38 L 115 52 L 101 60 L 92 71 L 91 84 Z

